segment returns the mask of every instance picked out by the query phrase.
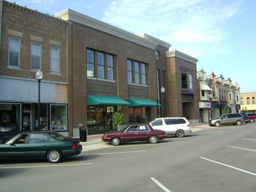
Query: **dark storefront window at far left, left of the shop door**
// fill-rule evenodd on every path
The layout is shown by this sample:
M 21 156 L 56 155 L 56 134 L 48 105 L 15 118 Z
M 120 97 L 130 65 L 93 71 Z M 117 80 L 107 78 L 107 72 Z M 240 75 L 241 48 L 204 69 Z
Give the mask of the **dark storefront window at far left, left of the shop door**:
M 20 104 L 0 104 L 0 131 L 20 131 Z

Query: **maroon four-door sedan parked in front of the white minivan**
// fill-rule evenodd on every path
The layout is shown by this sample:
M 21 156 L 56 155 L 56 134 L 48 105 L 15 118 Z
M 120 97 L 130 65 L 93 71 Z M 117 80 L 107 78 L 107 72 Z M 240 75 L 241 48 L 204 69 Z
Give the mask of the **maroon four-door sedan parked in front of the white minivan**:
M 149 124 L 128 125 L 124 131 L 106 132 L 102 136 L 102 141 L 111 142 L 112 145 L 120 145 L 122 142 L 148 141 L 157 143 L 158 140 L 166 138 L 165 131 L 154 130 Z

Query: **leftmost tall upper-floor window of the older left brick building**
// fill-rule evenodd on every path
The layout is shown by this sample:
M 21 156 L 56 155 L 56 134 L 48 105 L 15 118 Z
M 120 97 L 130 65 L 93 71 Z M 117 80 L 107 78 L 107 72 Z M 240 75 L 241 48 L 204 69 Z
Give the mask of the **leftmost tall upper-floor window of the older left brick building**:
M 10 36 L 9 38 L 9 63 L 10 67 L 20 65 L 20 38 Z

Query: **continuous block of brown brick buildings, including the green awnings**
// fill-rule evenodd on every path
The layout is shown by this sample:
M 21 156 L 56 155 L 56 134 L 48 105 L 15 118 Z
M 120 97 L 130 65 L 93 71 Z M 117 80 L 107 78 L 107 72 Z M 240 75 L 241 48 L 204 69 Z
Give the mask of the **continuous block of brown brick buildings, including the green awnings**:
M 195 58 L 73 10 L 52 17 L 2 5 L 0 127 L 76 136 L 83 124 L 89 134 L 106 132 L 116 129 L 117 106 L 124 124 L 159 116 L 198 122 Z

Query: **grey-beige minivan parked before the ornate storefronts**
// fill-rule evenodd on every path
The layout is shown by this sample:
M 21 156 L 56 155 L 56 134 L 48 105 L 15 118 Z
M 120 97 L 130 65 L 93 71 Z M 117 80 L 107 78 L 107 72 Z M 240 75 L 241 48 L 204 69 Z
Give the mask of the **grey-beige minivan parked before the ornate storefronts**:
M 219 127 L 220 125 L 241 125 L 243 123 L 245 123 L 243 115 L 240 113 L 228 113 L 211 120 L 209 125 Z

